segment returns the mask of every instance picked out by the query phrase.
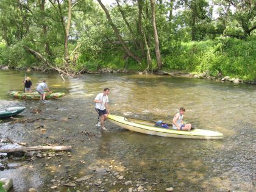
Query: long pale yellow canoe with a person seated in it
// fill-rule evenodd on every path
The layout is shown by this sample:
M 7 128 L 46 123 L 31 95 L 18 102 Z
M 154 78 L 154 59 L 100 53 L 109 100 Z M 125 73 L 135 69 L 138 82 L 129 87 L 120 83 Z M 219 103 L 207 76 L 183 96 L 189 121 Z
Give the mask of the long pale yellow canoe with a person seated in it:
M 140 132 L 148 135 L 157 135 L 161 137 L 174 137 L 174 138 L 193 138 L 193 139 L 221 139 L 223 134 L 212 130 L 204 129 L 191 129 L 187 130 L 174 130 L 166 129 L 163 127 L 155 127 L 157 122 L 145 121 L 141 119 L 126 118 L 117 115 L 108 115 L 108 120 L 117 126 L 124 129 Z M 167 124 L 172 127 L 172 124 Z

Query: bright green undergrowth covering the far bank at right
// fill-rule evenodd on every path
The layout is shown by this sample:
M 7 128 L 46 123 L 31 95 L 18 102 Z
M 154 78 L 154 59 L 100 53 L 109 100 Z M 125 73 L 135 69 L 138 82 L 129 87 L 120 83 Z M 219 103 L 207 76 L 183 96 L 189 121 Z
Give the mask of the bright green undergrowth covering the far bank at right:
M 182 43 L 164 55 L 165 68 L 180 69 L 210 75 L 256 79 L 255 40 L 236 38 L 218 38 L 200 42 Z

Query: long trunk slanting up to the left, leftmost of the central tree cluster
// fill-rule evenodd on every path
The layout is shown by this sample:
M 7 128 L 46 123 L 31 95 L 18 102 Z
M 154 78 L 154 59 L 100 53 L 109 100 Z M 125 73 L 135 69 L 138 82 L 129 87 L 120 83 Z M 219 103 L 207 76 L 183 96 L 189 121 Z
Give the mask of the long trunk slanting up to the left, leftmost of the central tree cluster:
M 110 23 L 110 25 L 112 26 L 115 34 L 116 34 L 116 37 L 118 38 L 118 40 L 120 41 L 120 43 L 122 44 L 124 50 L 126 51 L 127 55 L 129 55 L 130 57 L 132 57 L 134 60 L 136 60 L 139 64 L 141 63 L 141 59 L 140 57 L 138 57 L 137 55 L 133 54 L 132 51 L 130 51 L 129 48 L 127 48 L 126 44 L 124 43 L 123 41 L 123 38 L 121 37 L 121 35 L 119 34 L 119 31 L 118 29 L 116 28 L 115 24 L 113 23 L 109 13 L 108 13 L 108 10 L 105 8 L 105 6 L 102 4 L 101 0 L 97 0 L 99 2 L 99 5 L 101 5 L 102 9 L 104 10 L 106 16 L 107 16 L 107 19 L 108 19 L 108 22 Z

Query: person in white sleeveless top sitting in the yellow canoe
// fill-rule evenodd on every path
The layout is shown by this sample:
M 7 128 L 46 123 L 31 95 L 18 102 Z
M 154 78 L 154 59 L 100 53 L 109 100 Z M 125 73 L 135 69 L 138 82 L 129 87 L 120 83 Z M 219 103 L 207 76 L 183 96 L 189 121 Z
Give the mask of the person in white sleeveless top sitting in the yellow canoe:
M 180 107 L 180 112 L 174 115 L 172 120 L 172 129 L 175 130 L 190 130 L 191 124 L 183 124 L 183 114 L 185 113 L 185 108 Z

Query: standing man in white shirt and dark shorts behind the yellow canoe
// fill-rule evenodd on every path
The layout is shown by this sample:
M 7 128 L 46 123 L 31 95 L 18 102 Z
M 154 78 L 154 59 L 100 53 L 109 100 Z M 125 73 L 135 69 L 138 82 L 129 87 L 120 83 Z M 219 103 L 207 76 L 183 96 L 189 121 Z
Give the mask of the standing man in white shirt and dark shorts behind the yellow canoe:
M 102 130 L 107 130 L 105 128 L 105 121 L 107 120 L 107 115 L 110 114 L 108 110 L 108 93 L 109 88 L 104 88 L 103 93 L 97 94 L 96 98 L 94 99 L 95 109 L 98 113 L 98 118 L 100 119 L 100 122 L 96 124 L 96 126 L 101 126 Z

